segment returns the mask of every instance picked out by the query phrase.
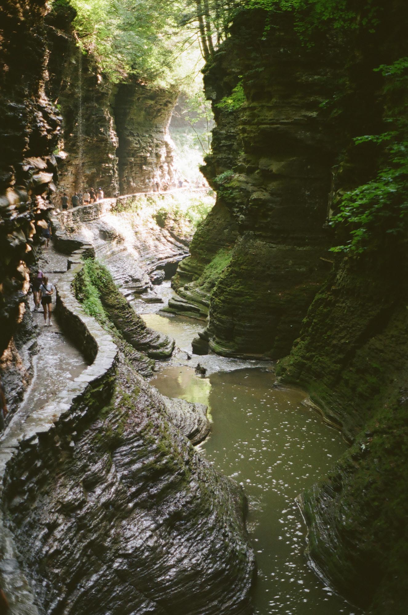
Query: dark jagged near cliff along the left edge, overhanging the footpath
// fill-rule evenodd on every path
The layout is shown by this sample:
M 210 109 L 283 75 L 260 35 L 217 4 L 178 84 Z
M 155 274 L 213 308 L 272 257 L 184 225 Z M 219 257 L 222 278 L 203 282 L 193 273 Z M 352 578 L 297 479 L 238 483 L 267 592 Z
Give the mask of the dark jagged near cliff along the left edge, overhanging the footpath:
M 10 410 L 31 378 L 29 267 L 52 208 L 62 121 L 46 93 L 46 12 L 41 0 L 0 6 L 0 357 Z

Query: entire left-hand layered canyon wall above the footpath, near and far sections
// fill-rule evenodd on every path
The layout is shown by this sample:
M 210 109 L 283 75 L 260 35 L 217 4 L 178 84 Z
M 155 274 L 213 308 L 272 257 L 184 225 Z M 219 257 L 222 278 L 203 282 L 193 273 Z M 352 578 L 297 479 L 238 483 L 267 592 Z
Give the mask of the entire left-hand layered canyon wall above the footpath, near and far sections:
M 101 186 L 106 195 L 119 192 L 116 100 L 121 117 L 127 113 L 134 119 L 150 109 L 148 119 L 138 124 L 142 140 L 146 124 L 147 145 L 142 149 L 148 167 L 145 162 L 139 165 L 137 181 L 126 189 L 145 190 L 153 176 L 163 180 L 171 175 L 166 127 L 174 93 L 140 87 L 142 95 L 126 100 L 141 108 L 127 109 L 116 98 L 118 87 L 94 58 L 79 50 L 74 16 L 64 2 L 5 1 L 0 7 L 0 365 L 10 408 L 31 379 L 35 336 L 29 315 L 23 319 L 23 314 L 28 309 L 29 268 L 36 262 L 50 210 L 60 207 L 65 191 Z M 126 87 L 134 93 L 137 86 Z

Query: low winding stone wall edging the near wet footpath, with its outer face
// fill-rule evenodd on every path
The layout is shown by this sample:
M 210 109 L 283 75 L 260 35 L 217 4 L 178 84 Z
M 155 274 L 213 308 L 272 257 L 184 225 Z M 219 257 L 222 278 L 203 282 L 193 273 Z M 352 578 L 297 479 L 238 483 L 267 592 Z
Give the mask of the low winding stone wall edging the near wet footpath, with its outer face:
M 56 218 L 53 223 L 58 223 Z M 20 569 L 12 534 L 3 525 L 4 512 L 7 525 L 9 510 L 16 506 L 21 510 L 26 505 L 41 475 L 48 473 L 47 466 L 62 451 L 70 451 L 74 446 L 72 434 L 102 407 L 113 390 L 118 349 L 96 320 L 84 314 L 71 292 L 73 279 L 82 268 L 81 256 L 91 249 L 82 245 L 70 256 L 70 268 L 57 287 L 62 328 L 90 364 L 52 402 L 29 416 L 20 434 L 6 433 L 0 444 L 0 587 L 10 600 L 10 615 L 38 615 L 42 611 L 34 604 L 30 585 Z

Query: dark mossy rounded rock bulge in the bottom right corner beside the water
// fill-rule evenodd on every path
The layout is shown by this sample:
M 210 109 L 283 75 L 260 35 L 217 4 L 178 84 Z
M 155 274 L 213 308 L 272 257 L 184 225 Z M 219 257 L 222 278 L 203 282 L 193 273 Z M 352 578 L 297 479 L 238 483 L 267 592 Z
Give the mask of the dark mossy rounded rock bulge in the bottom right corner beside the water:
M 406 613 L 407 390 L 366 424 L 326 480 L 300 498 L 308 553 L 338 592 L 370 613 Z

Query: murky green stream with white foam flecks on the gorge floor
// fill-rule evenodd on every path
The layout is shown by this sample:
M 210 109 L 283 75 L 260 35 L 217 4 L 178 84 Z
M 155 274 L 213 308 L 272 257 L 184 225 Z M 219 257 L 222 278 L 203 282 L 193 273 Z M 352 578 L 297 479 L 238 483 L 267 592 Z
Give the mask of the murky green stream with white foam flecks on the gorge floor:
M 167 298 L 169 284 L 162 286 Z M 306 529 L 295 504 L 297 494 L 323 477 L 345 451 L 341 435 L 303 405 L 305 392 L 273 388 L 271 364 L 217 355 L 188 359 L 202 323 L 160 313 L 159 304 L 142 306 L 138 300 L 134 305 L 150 327 L 173 336 L 180 348 L 151 384 L 170 397 L 208 405 L 212 433 L 199 448 L 244 487 L 258 565 L 255 613 L 357 614 L 309 567 Z M 207 368 L 205 378 L 194 372 L 198 362 Z

